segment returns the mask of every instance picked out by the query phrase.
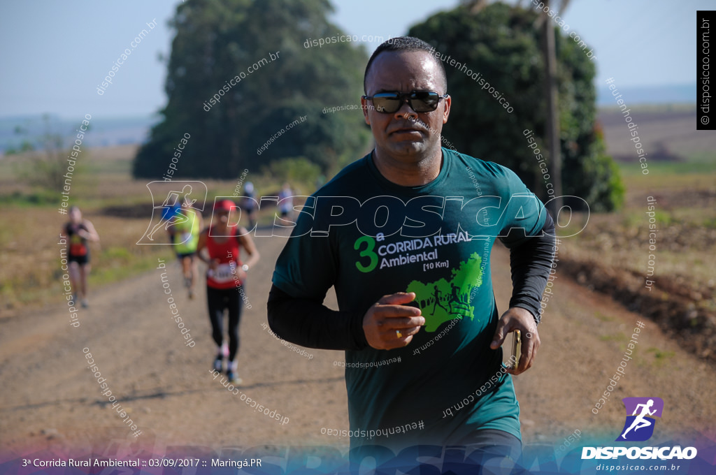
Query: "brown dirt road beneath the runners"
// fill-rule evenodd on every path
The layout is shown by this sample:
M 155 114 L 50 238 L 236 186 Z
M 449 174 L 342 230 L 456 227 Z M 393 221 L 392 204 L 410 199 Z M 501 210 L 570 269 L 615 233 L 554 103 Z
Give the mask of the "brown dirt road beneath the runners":
M 287 423 L 254 411 L 213 380 L 204 292 L 188 300 L 173 262 L 168 283 L 193 347 L 185 346 L 170 318 L 160 270 L 93 289 L 91 306 L 79 313 L 79 328 L 69 325 L 60 303 L 0 322 L 0 446 L 67 453 L 131 436 L 87 368 L 86 351 L 142 431 L 136 440 L 164 446 L 347 445 L 347 439 L 321 435 L 324 427 L 348 429 L 343 370 L 334 365 L 343 355 L 308 350 L 309 360 L 263 328 L 271 273 L 284 240 L 256 238 L 256 243 L 262 258 L 252 269 L 247 285 L 251 309 L 241 321 L 241 391 L 288 417 Z M 500 310 L 511 292 L 508 262 L 507 251 L 495 246 L 493 280 Z M 539 327 L 536 366 L 516 377 L 526 444 L 559 444 L 575 430 L 583 441 L 590 434 L 616 437 L 624 423 L 621 398 L 627 396 L 664 399 L 654 443 L 690 429 L 714 430 L 716 403 L 705 396 L 716 393 L 712 368 L 669 341 L 655 324 L 557 275 Z M 634 359 L 595 415 L 594 403 L 619 366 L 637 320 L 644 328 Z

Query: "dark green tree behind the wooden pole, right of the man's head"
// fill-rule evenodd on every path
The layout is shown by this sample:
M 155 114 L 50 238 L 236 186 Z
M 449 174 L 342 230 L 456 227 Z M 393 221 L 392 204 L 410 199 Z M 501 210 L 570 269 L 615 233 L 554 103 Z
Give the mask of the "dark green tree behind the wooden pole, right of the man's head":
M 524 134 L 526 130 L 534 132 L 549 165 L 538 14 L 503 3 L 480 7 L 471 11 L 468 6 L 458 6 L 435 14 L 409 32 L 480 74 L 475 81 L 454 65 L 445 64 L 453 109 L 443 133 L 460 152 L 511 168 L 547 200 L 546 183 Z M 624 187 L 595 127 L 594 62 L 554 26 L 563 195 L 583 198 L 591 210 L 614 210 L 623 201 Z M 483 89 L 480 79 L 507 99 L 513 112 L 506 112 L 503 104 Z

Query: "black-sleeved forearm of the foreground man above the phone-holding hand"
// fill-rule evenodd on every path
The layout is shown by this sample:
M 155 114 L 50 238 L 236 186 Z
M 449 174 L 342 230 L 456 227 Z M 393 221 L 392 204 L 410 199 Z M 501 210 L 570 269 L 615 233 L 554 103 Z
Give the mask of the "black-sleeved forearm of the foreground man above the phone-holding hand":
M 542 293 L 552 268 L 554 242 L 554 222 L 547 214 L 541 235 L 510 250 L 513 288 L 510 307 L 529 310 L 536 323 L 540 320 Z

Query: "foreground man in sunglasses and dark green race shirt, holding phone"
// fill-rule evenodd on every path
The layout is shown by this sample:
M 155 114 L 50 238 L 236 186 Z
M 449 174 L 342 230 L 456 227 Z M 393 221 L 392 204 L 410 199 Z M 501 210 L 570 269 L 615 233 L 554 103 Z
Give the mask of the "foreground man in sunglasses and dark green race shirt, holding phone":
M 276 262 L 271 329 L 302 346 L 346 351 L 350 429 L 359 431 L 352 454 L 437 444 L 469 446 L 480 464 L 516 459 L 521 434 L 511 375 L 532 366 L 540 344 L 553 221 L 511 170 L 440 147 L 451 98 L 442 62 L 425 41 L 381 44 L 364 87 L 375 149 L 299 212 Z M 482 267 L 480 257 L 495 238 L 510 249 L 513 276 L 501 316 L 489 262 Z M 438 288 L 448 293 L 453 284 L 472 295 L 465 315 L 439 304 Z M 332 286 L 339 310 L 323 305 Z M 410 346 L 431 341 L 452 320 L 430 350 L 412 355 Z M 526 338 L 516 368 L 505 374 L 500 345 L 513 330 Z M 374 364 L 395 357 L 401 362 Z M 468 396 L 467 406 L 443 415 Z

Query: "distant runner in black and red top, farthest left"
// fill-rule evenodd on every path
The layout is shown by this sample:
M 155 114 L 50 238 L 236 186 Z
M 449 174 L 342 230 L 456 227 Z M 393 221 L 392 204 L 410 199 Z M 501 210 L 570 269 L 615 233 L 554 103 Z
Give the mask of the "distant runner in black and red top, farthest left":
M 87 241 L 100 242 L 95 226 L 89 220 L 82 219 L 77 206 L 69 207 L 69 222 L 62 227 L 62 237 L 67 240 L 67 260 L 69 261 L 69 282 L 72 284 L 72 300 L 79 298 L 83 308 L 89 305 L 87 300 L 87 275 L 89 274 L 89 246 Z

